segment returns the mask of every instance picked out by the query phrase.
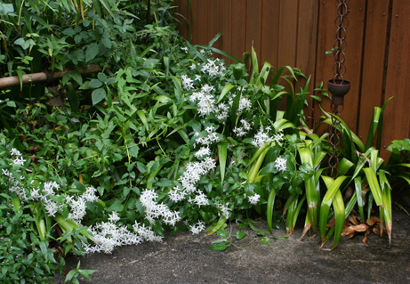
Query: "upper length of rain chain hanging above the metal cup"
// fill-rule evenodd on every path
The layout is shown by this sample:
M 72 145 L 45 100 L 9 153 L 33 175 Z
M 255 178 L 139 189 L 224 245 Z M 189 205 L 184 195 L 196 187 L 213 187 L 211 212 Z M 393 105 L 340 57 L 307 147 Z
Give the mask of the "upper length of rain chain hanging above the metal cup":
M 336 0 L 337 5 L 337 17 L 334 20 L 336 24 L 336 40 L 334 41 L 334 80 L 342 79 L 344 81 L 343 75 L 346 73 L 346 66 L 344 61 L 346 60 L 345 51 L 348 48 L 346 43 L 346 28 L 349 26 L 348 13 L 350 12 L 348 4 L 350 0 Z

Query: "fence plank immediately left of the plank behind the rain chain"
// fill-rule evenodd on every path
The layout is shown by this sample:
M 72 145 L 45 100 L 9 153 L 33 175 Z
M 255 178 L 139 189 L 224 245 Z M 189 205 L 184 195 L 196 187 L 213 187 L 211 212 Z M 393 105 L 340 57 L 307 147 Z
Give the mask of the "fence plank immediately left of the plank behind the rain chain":
M 318 32 L 318 3 L 319 0 L 301 1 L 299 3 L 299 20 L 297 32 L 297 46 L 296 46 L 296 65 L 295 67 L 301 69 L 301 72 L 310 77 L 309 94 L 306 97 L 309 107 L 305 108 L 304 113 L 307 118 L 308 126 L 313 126 L 313 111 L 312 99 L 310 94 L 313 94 L 315 88 L 315 65 L 316 65 L 316 45 Z M 297 84 L 296 90 L 304 88 L 307 79 L 301 77 Z

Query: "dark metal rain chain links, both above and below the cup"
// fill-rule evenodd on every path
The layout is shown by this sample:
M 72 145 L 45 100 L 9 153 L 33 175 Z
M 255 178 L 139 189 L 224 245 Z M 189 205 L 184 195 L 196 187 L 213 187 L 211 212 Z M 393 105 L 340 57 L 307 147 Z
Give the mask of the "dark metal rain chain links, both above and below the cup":
M 335 24 L 336 24 L 336 40 L 334 41 L 334 78 L 333 83 L 337 85 L 343 85 L 344 73 L 346 72 L 346 66 L 344 62 L 346 60 L 345 51 L 348 48 L 346 43 L 346 28 L 349 26 L 349 19 L 347 17 L 350 12 L 348 4 L 350 0 L 336 0 L 337 5 L 337 14 Z M 332 80 L 331 80 L 332 81 Z M 347 81 L 346 81 L 347 82 Z M 347 82 L 349 83 L 349 82 Z M 350 84 L 350 83 L 349 83 Z M 349 90 L 348 90 L 349 92 Z M 329 136 L 327 137 L 330 147 L 327 150 L 329 156 L 328 167 L 326 169 L 326 175 L 336 178 L 339 175 L 339 156 L 341 155 L 341 132 L 340 132 L 340 120 L 337 117 L 342 117 L 343 103 L 338 101 L 338 98 L 333 94 L 331 110 L 334 114 L 332 116 L 332 124 L 329 125 Z M 341 107 L 341 109 L 339 109 Z

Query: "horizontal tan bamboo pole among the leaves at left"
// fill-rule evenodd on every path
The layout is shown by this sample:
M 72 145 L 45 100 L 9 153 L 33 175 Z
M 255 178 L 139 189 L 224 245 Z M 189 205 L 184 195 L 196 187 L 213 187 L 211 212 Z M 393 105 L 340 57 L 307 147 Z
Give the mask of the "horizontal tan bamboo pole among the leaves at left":
M 72 71 L 78 71 L 81 75 L 85 75 L 85 74 L 99 72 L 101 70 L 102 68 L 100 67 L 100 65 L 91 64 L 91 65 L 88 65 L 86 68 L 78 68 L 74 70 L 65 69 L 62 71 L 54 72 L 53 78 L 56 79 L 56 78 L 62 77 L 64 73 L 72 72 Z M 41 81 L 46 81 L 46 80 L 47 80 L 47 75 L 44 72 L 24 74 L 22 76 L 22 84 L 35 83 L 35 82 L 41 82 Z M 12 85 L 20 85 L 20 79 L 18 76 L 0 78 L 0 89 L 4 87 L 12 86 Z

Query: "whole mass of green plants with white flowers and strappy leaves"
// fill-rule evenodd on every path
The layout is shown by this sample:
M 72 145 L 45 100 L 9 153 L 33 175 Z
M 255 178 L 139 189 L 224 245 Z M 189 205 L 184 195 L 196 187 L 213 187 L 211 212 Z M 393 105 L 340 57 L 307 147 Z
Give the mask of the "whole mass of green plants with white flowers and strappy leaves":
M 327 134 L 310 131 L 303 116 L 310 80 L 295 90 L 301 70 L 260 68 L 254 52 L 246 69 L 212 47 L 219 36 L 190 45 L 173 24 L 172 4 L 0 2 L 2 76 L 101 67 L 1 93 L 1 280 L 41 282 L 62 272 L 68 254 L 161 241 L 165 230 L 209 225 L 222 238 L 212 248 L 223 250 L 224 224 L 259 230 L 254 216 L 267 218 L 270 233 L 283 219 L 292 233 L 303 213 L 303 235 L 319 226 L 322 246 L 334 234 L 335 247 L 350 227 L 351 235 L 376 224 L 390 236 L 388 177 L 409 180 L 399 158 L 408 145 L 394 142 L 386 165 L 380 142 L 371 147 L 385 107 L 375 109 L 380 123 L 366 145 L 342 123 L 340 175 L 327 177 Z M 284 96 L 286 110 L 277 110 Z M 359 218 L 346 219 L 354 208 Z M 78 266 L 66 280 L 90 273 Z

